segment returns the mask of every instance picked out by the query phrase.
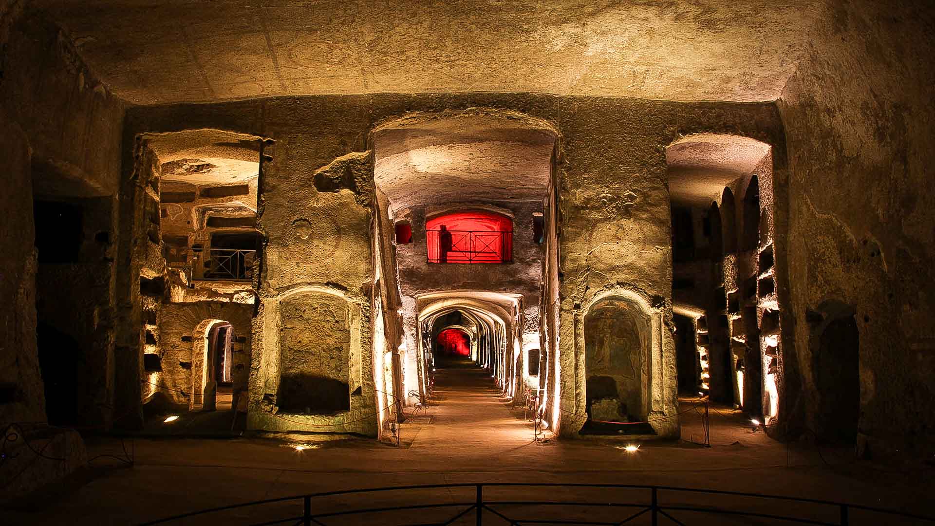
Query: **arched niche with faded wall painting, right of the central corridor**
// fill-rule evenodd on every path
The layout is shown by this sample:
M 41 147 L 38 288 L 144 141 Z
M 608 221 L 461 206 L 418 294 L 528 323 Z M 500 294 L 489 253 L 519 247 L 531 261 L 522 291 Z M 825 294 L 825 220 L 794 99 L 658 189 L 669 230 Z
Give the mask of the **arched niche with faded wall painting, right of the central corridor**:
M 600 300 L 584 316 L 587 409 L 593 420 L 645 419 L 645 326 L 640 309 L 621 299 Z

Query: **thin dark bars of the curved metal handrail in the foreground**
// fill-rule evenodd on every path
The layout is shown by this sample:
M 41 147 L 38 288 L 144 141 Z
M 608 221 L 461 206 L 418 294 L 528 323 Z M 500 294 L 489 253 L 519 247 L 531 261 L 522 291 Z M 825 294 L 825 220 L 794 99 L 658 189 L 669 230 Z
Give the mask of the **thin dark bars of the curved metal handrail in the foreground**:
M 339 511 L 323 511 L 323 512 L 312 512 L 312 499 L 324 498 L 324 497 L 334 497 L 338 495 L 353 495 L 359 494 L 363 496 L 365 493 L 376 493 L 376 492 L 386 492 L 386 491 L 406 491 L 406 490 L 418 490 L 418 489 L 453 489 L 453 488 L 471 488 L 474 489 L 474 499 L 472 501 L 459 501 L 453 503 L 432 503 L 432 504 L 408 504 L 408 505 L 395 505 L 395 506 L 378 506 L 378 507 L 365 507 L 359 509 L 341 509 Z M 548 500 L 548 501 L 535 501 L 535 500 L 489 500 L 484 496 L 484 489 L 491 488 L 593 488 L 593 489 L 642 489 L 649 490 L 649 502 L 640 502 L 640 503 L 617 503 L 617 502 L 608 502 L 607 500 L 596 501 L 596 502 L 584 502 L 584 501 L 557 501 L 557 500 Z M 769 513 L 760 513 L 757 511 L 743 511 L 737 509 L 721 508 L 714 506 L 692 506 L 685 505 L 683 503 L 679 504 L 661 504 L 659 500 L 660 492 L 676 492 L 676 493 L 702 493 L 709 495 L 729 495 L 732 497 L 753 497 L 762 500 L 773 500 L 773 501 L 785 501 L 785 502 L 795 502 L 795 503 L 808 503 L 808 504 L 818 504 L 824 506 L 831 506 L 831 510 L 835 516 L 835 522 L 826 522 L 816 519 L 807 519 L 804 517 L 793 517 L 788 515 L 773 515 Z M 552 491 L 549 493 L 552 495 L 560 495 L 561 492 Z M 685 524 L 682 520 L 675 519 L 672 517 L 669 512 L 693 512 L 693 513 L 702 513 L 715 516 L 741 516 L 749 517 L 756 519 L 776 519 L 787 522 L 796 522 L 800 524 L 821 524 L 827 526 L 850 526 L 852 524 L 852 514 L 853 510 L 868 512 L 871 514 L 880 514 L 887 516 L 890 519 L 901 518 L 901 519 L 913 519 L 915 521 L 924 521 L 926 523 L 935 523 L 935 518 L 933 517 L 924 517 L 920 515 L 915 515 L 911 513 L 905 513 L 901 511 L 888 510 L 883 508 L 876 508 L 872 506 L 862 505 L 862 504 L 845 504 L 838 503 L 833 501 L 824 501 L 820 499 L 809 499 L 809 498 L 799 498 L 799 497 L 787 497 L 782 495 L 765 495 L 761 493 L 751 493 L 745 491 L 728 491 L 721 489 L 695 489 L 695 488 L 679 488 L 672 486 L 643 486 L 643 485 L 633 485 L 633 484 L 561 484 L 561 483 L 522 483 L 522 482 L 494 482 L 494 483 L 483 483 L 483 484 L 427 484 L 427 485 L 417 485 L 417 486 L 396 486 L 396 487 L 387 487 L 387 488 L 368 488 L 368 489 L 345 489 L 345 490 L 336 490 L 336 491 L 324 491 L 319 493 L 309 493 L 305 495 L 295 495 L 291 497 L 280 497 L 276 499 L 266 499 L 263 501 L 253 501 L 250 503 L 242 504 L 231 504 L 227 506 L 213 507 L 209 509 L 204 509 L 200 511 L 194 511 L 190 513 L 185 513 L 181 515 L 176 515 L 173 517 L 168 517 L 165 519 L 152 520 L 150 522 L 144 522 L 140 526 L 148 526 L 151 524 L 165 524 L 181 519 L 187 519 L 196 516 L 204 516 L 211 513 L 217 513 L 226 510 L 232 510 L 237 508 L 243 508 L 254 505 L 261 504 L 274 504 L 274 503 L 284 503 L 289 501 L 301 501 L 302 502 L 302 514 L 294 517 L 289 517 L 285 519 L 274 519 L 264 522 L 257 522 L 254 524 L 272 524 L 272 523 L 293 523 L 293 524 L 319 524 L 323 525 L 324 522 L 321 519 L 327 518 L 337 518 L 337 517 L 348 517 L 352 515 L 363 515 L 363 514 L 373 514 L 373 513 L 383 513 L 383 512 L 393 512 L 393 511 L 408 511 L 416 509 L 431 509 L 431 508 L 445 508 L 445 507 L 460 507 L 464 506 L 464 509 L 459 510 L 453 517 L 444 519 L 441 522 L 433 522 L 432 524 L 452 524 L 453 521 L 461 519 L 473 512 L 473 515 L 476 518 L 475 523 L 478 526 L 481 526 L 483 523 L 484 512 L 496 516 L 499 519 L 508 521 L 511 525 L 522 525 L 522 524 L 535 524 L 547 522 L 549 524 L 626 524 L 630 521 L 637 519 L 645 514 L 649 514 L 652 524 L 658 524 L 659 517 L 665 517 L 672 521 L 674 524 Z M 574 520 L 574 519 L 561 519 L 554 518 L 549 520 L 541 519 L 518 519 L 514 517 L 508 517 L 506 514 L 507 511 L 503 509 L 496 509 L 494 506 L 510 506 L 510 505 L 522 505 L 522 506 L 592 506 L 595 508 L 621 508 L 621 511 L 629 510 L 630 515 L 624 517 L 620 520 L 613 520 L 612 522 L 600 522 L 594 519 L 588 520 Z M 633 508 L 638 508 L 635 513 Z M 875 521 L 874 523 L 881 523 Z M 890 522 L 886 522 L 890 523 Z M 916 522 L 918 523 L 918 522 Z

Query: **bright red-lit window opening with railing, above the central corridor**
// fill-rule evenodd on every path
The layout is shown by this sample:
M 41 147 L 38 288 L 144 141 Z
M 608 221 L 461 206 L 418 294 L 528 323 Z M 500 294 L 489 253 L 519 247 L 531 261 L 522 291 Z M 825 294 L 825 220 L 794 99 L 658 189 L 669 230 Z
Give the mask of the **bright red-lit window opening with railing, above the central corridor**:
M 513 257 L 513 222 L 496 212 L 446 213 L 425 222 L 429 263 L 506 263 Z

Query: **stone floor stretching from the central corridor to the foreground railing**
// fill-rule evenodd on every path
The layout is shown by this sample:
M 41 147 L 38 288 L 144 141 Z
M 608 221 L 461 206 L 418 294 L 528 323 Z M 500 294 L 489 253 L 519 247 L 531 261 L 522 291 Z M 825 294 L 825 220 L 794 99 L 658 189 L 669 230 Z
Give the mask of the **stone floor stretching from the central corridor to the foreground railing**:
M 371 440 L 346 440 L 296 451 L 268 439 L 137 438 L 127 446 L 136 463 L 127 467 L 101 457 L 66 484 L 3 510 L 5 524 L 127 524 L 187 511 L 334 489 L 478 482 L 557 482 L 665 485 L 770 493 L 903 509 L 927 515 L 933 484 L 922 464 L 882 464 L 854 460 L 847 449 L 770 440 L 726 408 L 712 411 L 712 447 L 700 442 L 703 431 L 693 406 L 682 403 L 683 441 L 643 443 L 636 453 L 611 440 L 533 439 L 531 422 L 498 396 L 489 375 L 478 369 L 439 370 L 439 404 L 422 423 L 404 424 L 403 447 Z M 122 455 L 119 440 L 89 440 L 89 456 Z M 319 506 L 469 502 L 472 489 L 424 489 L 404 494 L 336 497 Z M 515 489 L 525 499 L 547 499 L 568 489 Z M 578 491 L 577 489 L 571 490 Z M 633 494 L 630 500 L 645 501 Z M 584 498 L 584 496 L 583 496 Z M 604 498 L 604 497 L 601 497 Z M 611 497 L 608 497 L 611 498 Z M 619 495 L 612 498 L 623 498 Z M 683 499 L 683 497 L 679 497 Z M 707 499 L 707 497 L 706 497 Z M 712 505 L 741 505 L 739 500 Z M 743 504 L 746 505 L 746 504 Z M 750 504 L 761 505 L 761 504 Z M 278 506 L 278 507 L 277 507 Z M 286 507 L 291 506 L 291 507 Z M 771 507 L 770 507 L 771 506 Z M 768 505 L 789 511 L 799 505 Z M 757 508 L 760 509 L 760 508 Z M 244 508 L 223 517 L 185 524 L 240 524 L 297 513 L 300 504 L 277 504 L 258 517 Z M 280 515 L 278 515 L 280 514 Z M 464 518 L 473 523 L 473 517 Z M 497 522 L 487 522 L 485 524 Z M 619 517 L 619 519 L 623 519 Z M 641 519 L 647 519 L 643 517 Z M 879 518 L 852 523 L 895 524 Z M 424 512 L 405 523 L 432 520 Z M 647 519 L 648 520 L 648 519 Z M 745 519 L 711 519 L 701 524 L 767 524 Z M 368 524 L 399 523 L 367 519 Z M 324 524 L 358 523 L 330 519 Z M 640 523 L 640 522 L 635 522 Z M 648 521 L 645 523 L 649 523 Z M 666 522 L 662 522 L 666 523 Z M 904 522 L 912 523 L 912 522 Z

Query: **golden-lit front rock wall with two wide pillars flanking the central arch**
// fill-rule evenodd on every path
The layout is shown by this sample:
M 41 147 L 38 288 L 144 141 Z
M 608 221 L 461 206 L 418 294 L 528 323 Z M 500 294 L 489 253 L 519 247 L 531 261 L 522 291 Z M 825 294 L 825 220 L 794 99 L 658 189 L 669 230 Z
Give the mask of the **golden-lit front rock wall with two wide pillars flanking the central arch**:
M 597 293 L 628 291 L 654 316 L 655 361 L 649 382 L 654 414 L 674 414 L 676 374 L 668 320 L 671 273 L 664 150 L 673 139 L 700 132 L 733 133 L 781 143 L 782 129 L 772 105 L 530 94 L 382 94 L 129 110 L 124 136 L 127 144 L 143 132 L 198 128 L 271 139 L 261 164 L 260 228 L 267 245 L 262 300 L 253 323 L 253 428 L 376 433 L 369 370 L 373 334 L 369 326 L 370 287 L 375 273 L 369 203 L 372 189 L 361 188 L 355 173 L 372 169 L 369 161 L 363 162 L 369 159 L 367 133 L 381 122 L 413 111 L 477 108 L 511 110 L 543 119 L 563 137 L 556 176 L 561 221 L 557 271 L 562 280 L 556 370 L 563 407 L 577 414 L 585 410 L 584 344 L 575 329 L 585 306 L 597 300 Z M 335 177 L 316 179 L 323 168 L 333 171 Z M 330 186 L 325 190 L 323 185 L 320 190 L 316 181 Z M 363 395 L 359 405 L 354 404 L 354 397 L 351 410 L 337 416 L 271 415 L 277 411 L 275 396 L 280 381 L 281 300 L 307 293 L 330 294 L 348 302 L 352 356 L 360 354 L 359 362 L 350 362 L 351 377 L 357 374 L 354 367 L 359 367 Z M 571 425 L 563 430 L 569 434 L 577 431 Z M 658 429 L 667 436 L 677 430 L 677 426 Z

